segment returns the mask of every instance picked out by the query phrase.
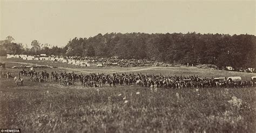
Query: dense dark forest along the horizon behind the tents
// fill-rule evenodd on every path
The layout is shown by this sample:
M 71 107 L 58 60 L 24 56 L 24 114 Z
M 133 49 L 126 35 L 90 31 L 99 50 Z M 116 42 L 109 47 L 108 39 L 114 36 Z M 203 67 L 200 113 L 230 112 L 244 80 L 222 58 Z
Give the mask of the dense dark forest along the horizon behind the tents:
M 74 38 L 59 48 L 49 48 L 37 40 L 28 49 L 12 42 L 8 36 L 0 43 L 1 55 L 47 54 L 64 56 L 98 56 L 121 59 L 147 59 L 166 63 L 215 64 L 218 67 L 256 68 L 254 35 L 200 33 L 106 33 L 90 38 Z

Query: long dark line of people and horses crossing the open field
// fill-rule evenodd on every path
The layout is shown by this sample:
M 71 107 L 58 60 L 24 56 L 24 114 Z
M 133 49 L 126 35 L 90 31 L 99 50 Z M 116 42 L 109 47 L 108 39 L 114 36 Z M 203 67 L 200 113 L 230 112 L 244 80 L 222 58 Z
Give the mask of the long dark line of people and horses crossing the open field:
M 216 80 L 211 78 L 200 78 L 195 75 L 190 76 L 165 76 L 160 75 L 143 75 L 142 73 L 113 73 L 112 75 L 104 73 L 67 73 L 52 71 L 20 71 L 19 75 L 29 76 L 31 81 L 35 82 L 56 82 L 60 85 L 83 85 L 86 87 L 104 87 L 104 86 L 123 86 L 138 85 L 143 87 L 159 88 L 204 88 L 204 87 L 250 87 L 254 86 L 252 80 Z

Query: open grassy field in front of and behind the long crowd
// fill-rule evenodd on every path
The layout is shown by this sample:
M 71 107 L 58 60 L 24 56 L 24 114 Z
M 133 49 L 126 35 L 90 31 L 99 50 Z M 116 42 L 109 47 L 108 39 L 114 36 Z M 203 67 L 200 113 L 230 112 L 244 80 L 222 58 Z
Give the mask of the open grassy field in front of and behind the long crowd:
M 6 62 L 4 71 L 13 75 L 17 75 L 18 69 L 10 67 L 19 64 L 17 62 L 47 63 L 1 60 Z M 75 68 L 55 64 L 60 65 L 57 71 L 79 73 L 127 71 L 199 77 L 241 76 L 246 80 L 255 76 L 186 67 Z M 28 77 L 23 78 L 24 86 L 18 87 L 14 79 L 0 78 L 0 128 L 21 128 L 22 132 L 255 132 L 255 87 L 84 88 L 30 82 Z

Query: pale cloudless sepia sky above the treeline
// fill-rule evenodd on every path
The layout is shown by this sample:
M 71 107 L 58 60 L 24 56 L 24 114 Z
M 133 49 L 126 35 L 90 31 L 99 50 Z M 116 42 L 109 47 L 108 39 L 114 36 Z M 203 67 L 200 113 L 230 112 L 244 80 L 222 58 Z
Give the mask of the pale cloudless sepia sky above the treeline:
M 98 33 L 254 34 L 255 1 L 3 1 L 0 40 L 65 46 Z

